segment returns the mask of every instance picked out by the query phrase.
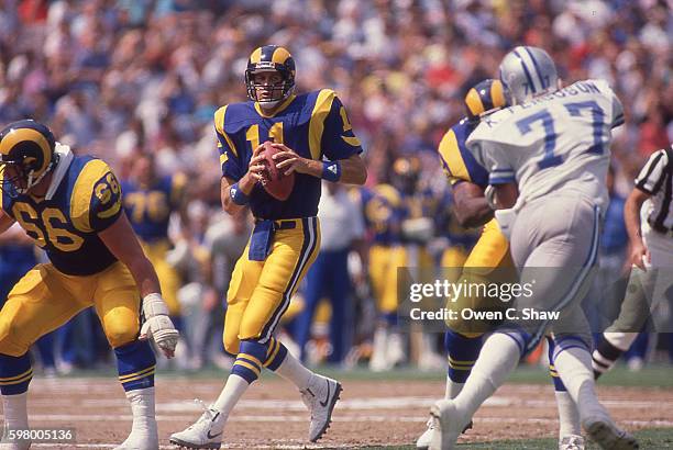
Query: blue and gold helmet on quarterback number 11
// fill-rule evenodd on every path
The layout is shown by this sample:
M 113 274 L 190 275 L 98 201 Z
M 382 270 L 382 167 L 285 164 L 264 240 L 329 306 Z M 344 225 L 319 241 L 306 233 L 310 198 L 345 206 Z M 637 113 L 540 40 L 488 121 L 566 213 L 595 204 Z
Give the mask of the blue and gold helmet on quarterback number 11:
M 256 82 L 255 75 L 264 71 L 277 71 L 282 80 L 274 85 Z M 265 45 L 256 48 L 247 59 L 245 69 L 247 98 L 266 108 L 274 108 L 287 99 L 295 90 L 295 59 L 285 47 Z M 271 99 L 257 95 L 257 89 L 271 90 Z

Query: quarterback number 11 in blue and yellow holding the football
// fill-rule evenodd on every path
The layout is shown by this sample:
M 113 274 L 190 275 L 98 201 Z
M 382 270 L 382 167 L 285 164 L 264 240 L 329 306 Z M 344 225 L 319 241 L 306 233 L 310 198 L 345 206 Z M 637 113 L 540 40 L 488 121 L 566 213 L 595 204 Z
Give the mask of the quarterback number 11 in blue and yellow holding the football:
M 250 101 L 214 114 L 222 166 L 222 205 L 229 214 L 246 205 L 255 228 L 239 259 L 227 294 L 224 348 L 236 355 L 220 397 L 199 420 L 170 437 L 188 448 L 219 448 L 227 418 L 247 386 L 266 367 L 295 383 L 311 413 L 309 440 L 327 430 L 341 385 L 318 375 L 274 338 L 290 296 L 320 248 L 318 202 L 321 179 L 363 184 L 362 146 L 334 91 L 295 93 L 295 60 L 279 46 L 255 49 L 247 61 Z M 260 181 L 265 142 L 273 142 L 276 167 L 295 173 L 285 201 Z M 278 162 L 279 161 L 279 162 Z

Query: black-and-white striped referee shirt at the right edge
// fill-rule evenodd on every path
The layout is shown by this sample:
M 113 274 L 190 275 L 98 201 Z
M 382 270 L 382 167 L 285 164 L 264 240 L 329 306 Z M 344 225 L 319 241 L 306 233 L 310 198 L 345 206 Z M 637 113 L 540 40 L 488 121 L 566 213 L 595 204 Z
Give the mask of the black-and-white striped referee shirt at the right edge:
M 636 188 L 652 195 L 652 211 L 648 222 L 652 229 L 668 233 L 673 229 L 673 146 L 653 153 L 636 179 Z

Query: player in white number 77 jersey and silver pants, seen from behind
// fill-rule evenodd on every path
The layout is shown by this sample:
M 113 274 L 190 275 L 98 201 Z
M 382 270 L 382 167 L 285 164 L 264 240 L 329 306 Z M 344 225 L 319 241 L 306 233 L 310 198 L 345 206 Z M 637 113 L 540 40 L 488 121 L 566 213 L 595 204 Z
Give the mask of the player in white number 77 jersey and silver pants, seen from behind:
M 517 311 L 544 315 L 519 315 L 487 338 L 462 392 L 431 408 L 430 448 L 454 448 L 479 405 L 551 329 L 556 346 L 550 363 L 584 429 L 604 449 L 636 449 L 594 392 L 591 334 L 580 307 L 597 257 L 610 128 L 622 120 L 621 105 L 598 80 L 556 90 L 555 65 L 541 48 L 507 54 L 500 80 L 515 106 L 483 119 L 467 148 L 508 209 L 496 211 L 496 218 L 510 236 L 521 285 L 533 286 L 531 295 L 516 299 Z

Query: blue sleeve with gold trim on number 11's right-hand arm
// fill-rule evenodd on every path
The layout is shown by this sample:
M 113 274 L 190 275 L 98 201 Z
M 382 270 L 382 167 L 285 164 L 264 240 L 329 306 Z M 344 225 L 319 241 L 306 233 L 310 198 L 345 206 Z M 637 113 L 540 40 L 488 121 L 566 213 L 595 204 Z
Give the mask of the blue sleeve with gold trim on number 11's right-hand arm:
M 323 155 L 332 161 L 347 159 L 363 151 L 360 139 L 353 133 L 345 108 L 338 97 L 334 97 L 330 112 L 324 119 L 321 147 Z

